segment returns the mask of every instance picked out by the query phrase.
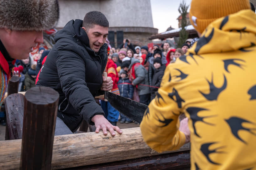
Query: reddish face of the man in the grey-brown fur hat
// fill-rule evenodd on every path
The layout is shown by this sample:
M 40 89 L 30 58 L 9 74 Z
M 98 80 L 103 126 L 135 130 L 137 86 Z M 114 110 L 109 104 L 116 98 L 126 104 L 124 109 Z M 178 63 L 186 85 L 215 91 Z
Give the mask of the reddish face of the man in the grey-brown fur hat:
M 5 31 L 7 40 L 3 41 L 3 45 L 13 59 L 28 58 L 29 53 L 33 52 L 33 47 L 36 47 L 37 43 L 44 43 L 43 31 L 15 31 L 10 29 L 5 29 Z

